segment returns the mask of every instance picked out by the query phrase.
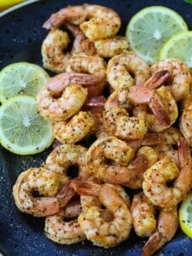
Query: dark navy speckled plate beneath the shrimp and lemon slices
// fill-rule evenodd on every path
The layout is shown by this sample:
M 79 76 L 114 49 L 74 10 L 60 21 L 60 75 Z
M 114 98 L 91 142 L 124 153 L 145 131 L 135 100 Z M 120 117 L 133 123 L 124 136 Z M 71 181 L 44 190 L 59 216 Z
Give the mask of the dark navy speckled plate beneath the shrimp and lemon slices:
M 182 0 L 94 0 L 86 3 L 105 4 L 122 18 L 121 33 L 128 20 L 139 9 L 150 5 L 170 7 L 183 16 L 192 29 L 192 5 Z M 0 69 L 11 62 L 30 61 L 42 65 L 40 46 L 46 35 L 42 28 L 50 14 L 67 4 L 82 4 L 75 0 L 46 0 L 15 9 L 0 19 Z M 51 148 L 49 148 L 51 149 Z M 60 246 L 44 236 L 44 219 L 23 214 L 15 207 L 12 187 L 19 173 L 30 166 L 40 166 L 43 154 L 18 156 L 0 148 L 0 251 L 7 255 L 140 255 L 144 241 L 131 232 L 130 239 L 118 247 L 103 249 L 84 241 L 72 246 Z M 192 255 L 192 241 L 177 230 L 175 238 L 163 247 L 160 255 Z

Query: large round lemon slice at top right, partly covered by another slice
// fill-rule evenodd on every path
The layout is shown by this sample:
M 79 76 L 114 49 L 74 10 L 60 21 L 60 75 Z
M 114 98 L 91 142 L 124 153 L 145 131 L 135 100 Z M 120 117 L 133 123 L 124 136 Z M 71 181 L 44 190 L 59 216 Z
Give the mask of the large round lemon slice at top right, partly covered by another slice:
M 160 49 L 178 32 L 188 30 L 182 16 L 163 6 L 151 6 L 137 12 L 129 21 L 125 37 L 130 49 L 148 64 L 158 61 Z

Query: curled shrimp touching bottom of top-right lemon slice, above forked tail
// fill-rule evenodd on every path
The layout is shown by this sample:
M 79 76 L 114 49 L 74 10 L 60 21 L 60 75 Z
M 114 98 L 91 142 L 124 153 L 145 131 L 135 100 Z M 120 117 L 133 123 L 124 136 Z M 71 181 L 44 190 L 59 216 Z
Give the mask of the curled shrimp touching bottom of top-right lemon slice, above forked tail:
M 142 85 L 150 77 L 148 64 L 131 51 L 114 55 L 107 66 L 107 79 L 113 90 Z

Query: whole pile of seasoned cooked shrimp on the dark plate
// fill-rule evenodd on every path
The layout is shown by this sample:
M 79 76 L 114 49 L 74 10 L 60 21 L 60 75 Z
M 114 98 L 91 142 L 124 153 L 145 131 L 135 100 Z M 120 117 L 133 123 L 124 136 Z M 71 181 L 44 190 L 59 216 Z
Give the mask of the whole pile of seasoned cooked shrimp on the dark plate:
M 91 4 L 45 21 L 43 62 L 55 75 L 37 104 L 55 148 L 20 173 L 13 195 L 21 212 L 45 218 L 51 241 L 108 248 L 133 230 L 151 255 L 175 236 L 192 187 L 191 74 L 177 59 L 149 67 L 120 26 L 113 9 Z

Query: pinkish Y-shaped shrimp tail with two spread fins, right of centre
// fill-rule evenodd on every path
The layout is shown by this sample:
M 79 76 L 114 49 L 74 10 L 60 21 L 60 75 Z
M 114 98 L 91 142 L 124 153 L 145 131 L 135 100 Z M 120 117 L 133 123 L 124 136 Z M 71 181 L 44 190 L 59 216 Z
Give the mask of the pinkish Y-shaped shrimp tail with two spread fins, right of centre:
M 155 118 L 158 119 L 162 125 L 170 125 L 171 119 L 166 113 L 166 108 L 159 94 L 154 89 L 160 87 L 169 77 L 169 72 L 161 70 L 154 73 L 142 86 L 132 86 L 129 93 L 129 97 L 134 104 L 148 104 Z

